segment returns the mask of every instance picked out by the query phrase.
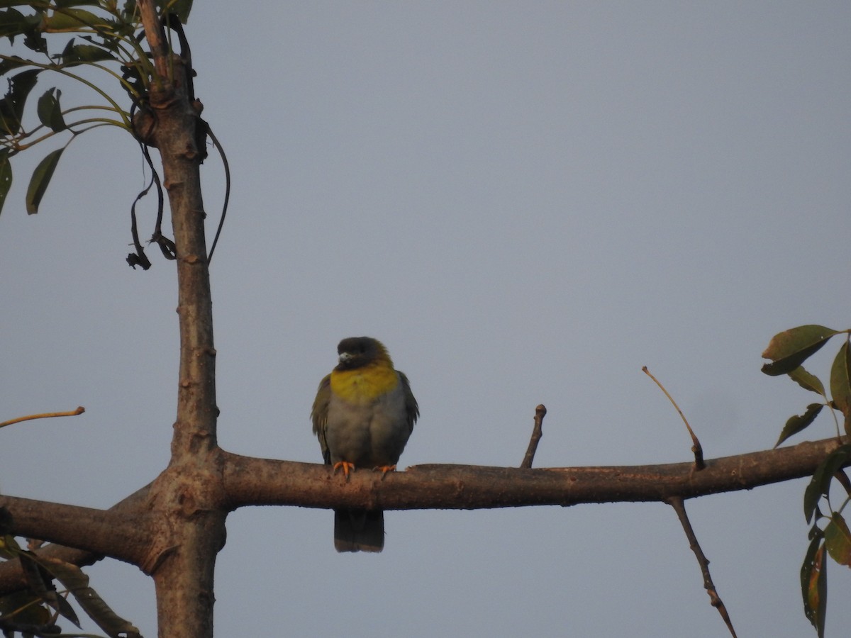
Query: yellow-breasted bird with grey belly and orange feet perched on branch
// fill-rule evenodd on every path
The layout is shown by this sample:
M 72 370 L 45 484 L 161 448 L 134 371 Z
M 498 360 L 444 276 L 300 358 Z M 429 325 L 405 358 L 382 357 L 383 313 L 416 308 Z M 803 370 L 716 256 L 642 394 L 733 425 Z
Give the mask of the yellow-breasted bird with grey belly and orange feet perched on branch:
M 420 407 L 408 377 L 393 367 L 386 347 L 371 337 L 348 337 L 337 346 L 337 366 L 319 383 L 311 409 L 313 433 L 326 465 L 348 480 L 357 468 L 382 477 L 401 456 Z M 334 510 L 334 549 L 384 549 L 384 512 Z

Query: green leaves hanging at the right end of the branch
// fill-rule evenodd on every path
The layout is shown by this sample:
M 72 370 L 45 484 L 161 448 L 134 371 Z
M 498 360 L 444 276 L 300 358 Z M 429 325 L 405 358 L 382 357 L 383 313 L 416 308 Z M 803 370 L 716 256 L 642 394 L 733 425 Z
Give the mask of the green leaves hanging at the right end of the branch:
M 851 532 L 848 531 L 848 523 L 842 516 L 842 510 L 851 501 L 851 481 L 844 471 L 844 468 L 851 464 L 851 443 L 848 442 L 851 441 L 849 333 L 851 329 L 834 330 L 819 325 L 798 326 L 775 334 L 768 343 L 768 348 L 762 353 L 764 358 L 771 360 L 762 366 L 763 373 L 771 376 L 785 374 L 804 390 L 814 392 L 821 398 L 820 402 L 810 403 L 804 413 L 793 415 L 786 421 L 774 447 L 807 428 L 824 407 L 830 409 L 837 427 L 837 437 L 843 441 L 815 470 L 803 499 L 804 516 L 808 523 L 812 522 L 812 527 L 809 531 L 807 554 L 801 567 L 801 591 L 804 613 L 820 638 L 825 635 L 827 609 L 825 551 L 840 565 L 851 567 Z M 831 396 L 828 396 L 821 379 L 809 373 L 802 364 L 837 334 L 844 334 L 845 340 L 833 358 L 829 384 Z M 842 432 L 837 413 L 842 416 Z M 844 491 L 844 498 L 837 505 L 831 503 L 831 486 L 834 481 L 837 481 Z

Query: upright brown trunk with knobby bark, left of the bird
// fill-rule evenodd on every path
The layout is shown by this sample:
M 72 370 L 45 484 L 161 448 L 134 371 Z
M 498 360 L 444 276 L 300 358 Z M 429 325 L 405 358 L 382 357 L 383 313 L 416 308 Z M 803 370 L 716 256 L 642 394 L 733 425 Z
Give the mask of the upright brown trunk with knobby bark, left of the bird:
M 226 512 L 221 510 L 220 476 L 215 470 L 215 350 L 200 162 L 204 136 L 197 131 L 200 103 L 189 93 L 187 69 L 164 46 L 163 29 L 151 0 L 139 0 L 146 38 L 158 77 L 150 107 L 151 145 L 163 161 L 177 255 L 180 322 L 180 379 L 177 419 L 168 469 L 157 478 L 149 504 L 161 527 L 146 571 L 157 590 L 162 638 L 213 635 L 215 556 L 224 544 Z M 200 138 L 200 140 L 199 140 Z

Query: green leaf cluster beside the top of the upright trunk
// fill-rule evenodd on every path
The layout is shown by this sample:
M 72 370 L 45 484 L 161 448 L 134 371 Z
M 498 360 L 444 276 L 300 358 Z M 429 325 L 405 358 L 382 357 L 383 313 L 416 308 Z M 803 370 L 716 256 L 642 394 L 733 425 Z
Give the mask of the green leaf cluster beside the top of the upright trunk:
M 191 0 L 160 0 L 157 7 L 165 20 L 185 23 Z M 71 34 L 71 38 L 62 38 L 63 46 L 52 53 L 47 36 L 57 34 Z M 31 175 L 26 211 L 35 214 L 63 151 L 77 135 L 101 126 L 133 131 L 131 113 L 145 101 L 153 66 L 142 46 L 144 33 L 133 0 L 121 4 L 117 0 L 0 0 L 0 39 L 4 37 L 29 49 L 31 57 L 0 54 L 0 77 L 8 85 L 0 100 L 0 211 L 12 185 L 11 158 L 57 134 L 67 136 L 65 144 L 45 156 Z M 128 94 L 129 108 L 86 79 L 77 67 L 111 76 Z M 49 88 L 37 100 L 38 124 L 26 128 L 27 101 L 45 72 L 82 83 L 98 96 L 98 103 L 65 107 L 61 91 Z

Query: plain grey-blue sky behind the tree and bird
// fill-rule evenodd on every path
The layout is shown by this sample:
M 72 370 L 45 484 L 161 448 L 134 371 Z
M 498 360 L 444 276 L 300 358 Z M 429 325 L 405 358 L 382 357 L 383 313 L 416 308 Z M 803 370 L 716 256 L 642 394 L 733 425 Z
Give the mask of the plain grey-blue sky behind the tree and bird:
M 848 3 L 197 3 L 197 95 L 234 180 L 212 266 L 221 445 L 320 462 L 317 383 L 368 334 L 420 402 L 400 467 L 517 465 L 540 402 L 536 466 L 688 461 L 644 365 L 707 458 L 771 447 L 813 397 L 760 373 L 768 339 L 848 327 L 849 27 Z M 0 216 L 0 420 L 86 413 L 0 431 L 0 488 L 108 507 L 168 461 L 174 268 L 156 248 L 151 271 L 124 263 L 132 140 L 75 141 L 27 217 L 44 152 Z M 203 179 L 212 233 L 213 157 Z M 805 485 L 687 503 L 741 636 L 814 635 Z M 661 504 L 390 512 L 380 555 L 336 554 L 332 527 L 231 515 L 217 635 L 725 635 Z M 146 577 L 89 573 L 156 635 Z M 849 589 L 831 563 L 827 635 Z

